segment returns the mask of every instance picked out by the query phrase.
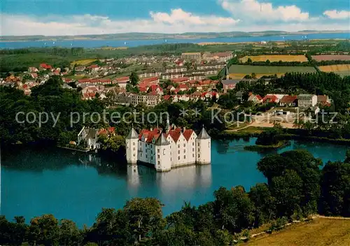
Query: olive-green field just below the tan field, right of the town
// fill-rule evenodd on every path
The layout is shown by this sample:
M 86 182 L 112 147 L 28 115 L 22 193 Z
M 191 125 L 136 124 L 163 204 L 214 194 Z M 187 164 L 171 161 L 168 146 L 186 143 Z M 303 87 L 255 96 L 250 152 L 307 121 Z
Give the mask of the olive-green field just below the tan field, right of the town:
M 312 66 L 246 66 L 246 65 L 232 65 L 229 68 L 230 78 L 243 78 L 247 74 L 255 73 L 257 78 L 263 75 L 281 76 L 284 73 L 300 72 L 300 73 L 314 73 L 315 68 Z

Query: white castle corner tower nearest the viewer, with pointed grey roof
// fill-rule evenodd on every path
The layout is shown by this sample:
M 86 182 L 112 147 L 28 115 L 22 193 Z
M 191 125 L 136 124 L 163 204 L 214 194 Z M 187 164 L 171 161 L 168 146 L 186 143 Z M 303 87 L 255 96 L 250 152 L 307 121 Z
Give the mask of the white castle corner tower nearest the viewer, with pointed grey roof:
M 166 172 L 172 169 L 172 152 L 170 143 L 165 134 L 161 133 L 155 141 L 155 169 L 158 172 Z

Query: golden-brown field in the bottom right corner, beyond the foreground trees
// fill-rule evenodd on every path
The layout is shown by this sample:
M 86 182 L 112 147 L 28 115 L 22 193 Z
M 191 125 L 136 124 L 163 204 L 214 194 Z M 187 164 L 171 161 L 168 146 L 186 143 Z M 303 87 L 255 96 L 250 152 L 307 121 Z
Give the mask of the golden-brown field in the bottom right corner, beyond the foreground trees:
M 249 246 L 335 246 L 350 245 L 350 220 L 316 218 L 311 222 L 294 224 L 282 231 L 253 238 Z

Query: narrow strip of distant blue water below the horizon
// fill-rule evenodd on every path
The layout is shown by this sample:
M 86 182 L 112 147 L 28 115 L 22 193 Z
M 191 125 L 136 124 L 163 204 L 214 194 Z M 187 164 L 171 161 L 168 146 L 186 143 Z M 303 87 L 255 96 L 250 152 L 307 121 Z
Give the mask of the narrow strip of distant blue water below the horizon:
M 207 43 L 207 42 L 223 42 L 223 43 L 241 43 L 241 42 L 260 42 L 260 41 L 300 41 L 304 40 L 305 35 L 288 35 L 288 36 L 257 36 L 257 37 L 235 37 L 235 38 L 198 38 L 198 39 L 145 39 L 145 40 L 66 40 L 66 41 L 15 41 L 0 42 L 2 49 L 19 49 L 29 47 L 83 47 L 83 48 L 99 48 L 102 46 L 110 47 L 136 47 L 140 45 L 159 45 L 164 43 Z M 334 38 L 350 38 L 350 33 L 330 33 L 330 34 L 308 34 L 308 39 L 334 39 Z

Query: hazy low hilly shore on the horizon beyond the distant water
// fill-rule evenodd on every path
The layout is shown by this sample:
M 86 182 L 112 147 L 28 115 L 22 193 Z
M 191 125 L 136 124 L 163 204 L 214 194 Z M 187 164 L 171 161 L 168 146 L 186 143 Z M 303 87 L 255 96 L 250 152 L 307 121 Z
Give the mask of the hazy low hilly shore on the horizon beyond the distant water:
M 329 34 L 329 33 L 348 33 L 349 30 L 337 31 L 230 31 L 230 32 L 187 32 L 183 34 L 157 34 L 157 33 L 125 33 L 125 34 L 92 34 L 78 36 L 0 36 L 0 42 L 10 41 L 64 41 L 64 40 L 147 40 L 147 39 L 196 39 L 196 38 L 234 38 L 234 37 L 253 37 L 253 36 L 288 36 L 288 35 L 306 35 L 306 34 Z

